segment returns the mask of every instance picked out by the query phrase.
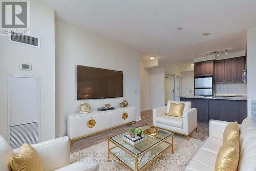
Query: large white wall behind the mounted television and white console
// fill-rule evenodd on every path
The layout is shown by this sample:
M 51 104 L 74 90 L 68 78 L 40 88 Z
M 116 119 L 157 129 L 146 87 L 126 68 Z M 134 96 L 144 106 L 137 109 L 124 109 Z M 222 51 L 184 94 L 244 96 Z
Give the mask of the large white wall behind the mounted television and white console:
M 66 117 L 79 104 L 92 110 L 110 103 L 117 108 L 126 99 L 140 119 L 140 53 L 119 42 L 55 20 L 56 137 L 66 135 Z M 76 65 L 123 71 L 124 98 L 76 100 Z M 137 91 L 137 92 L 134 92 Z

